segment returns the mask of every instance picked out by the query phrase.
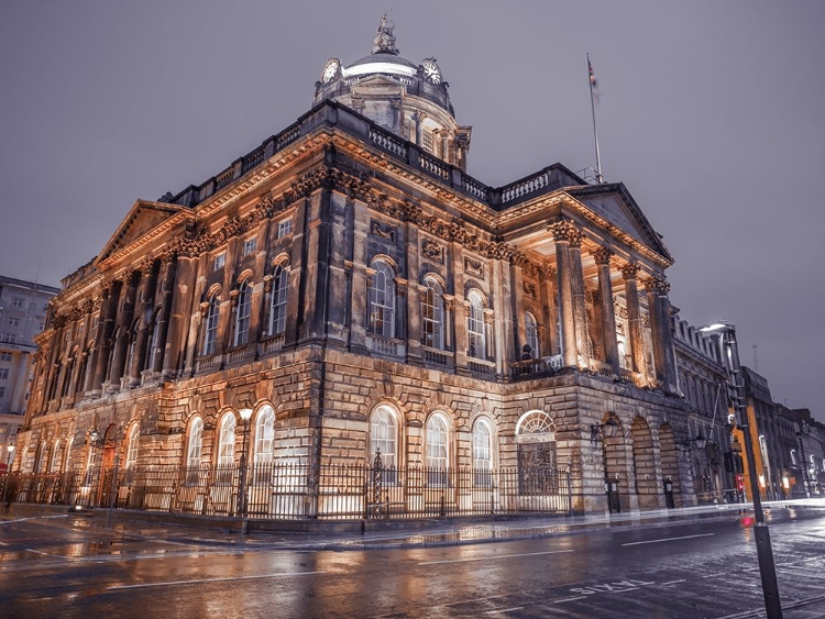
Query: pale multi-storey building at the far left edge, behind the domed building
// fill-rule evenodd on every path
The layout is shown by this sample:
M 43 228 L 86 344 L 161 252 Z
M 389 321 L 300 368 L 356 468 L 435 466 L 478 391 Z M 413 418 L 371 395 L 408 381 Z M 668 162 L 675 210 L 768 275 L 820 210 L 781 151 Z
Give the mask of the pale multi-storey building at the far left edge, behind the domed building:
M 34 336 L 58 288 L 0 276 L 0 469 L 11 462 L 29 402 Z

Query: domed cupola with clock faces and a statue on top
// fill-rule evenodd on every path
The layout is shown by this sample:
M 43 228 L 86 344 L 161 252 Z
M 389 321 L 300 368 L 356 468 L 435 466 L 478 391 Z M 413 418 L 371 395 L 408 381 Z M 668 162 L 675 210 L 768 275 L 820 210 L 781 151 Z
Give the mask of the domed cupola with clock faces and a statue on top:
M 436 58 L 416 65 L 395 46 L 395 24 L 382 15 L 372 52 L 343 66 L 330 58 L 316 82 L 314 106 L 331 99 L 466 169 L 472 128 L 459 126 Z

